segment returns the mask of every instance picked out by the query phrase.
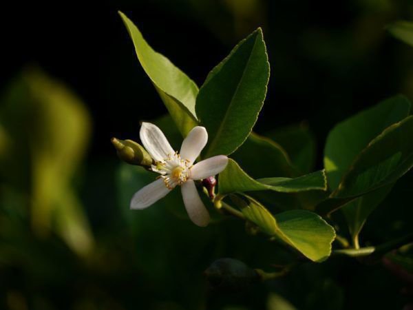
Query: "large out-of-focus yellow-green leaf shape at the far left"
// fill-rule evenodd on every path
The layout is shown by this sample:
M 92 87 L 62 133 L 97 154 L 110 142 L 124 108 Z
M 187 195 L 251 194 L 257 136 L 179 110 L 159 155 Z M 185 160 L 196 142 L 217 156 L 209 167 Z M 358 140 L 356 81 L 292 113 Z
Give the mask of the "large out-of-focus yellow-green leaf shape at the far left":
M 78 254 L 87 254 L 93 237 L 70 182 L 89 140 L 89 115 L 70 90 L 39 70 L 24 72 L 12 89 L 15 94 L 8 96 L 0 121 L 10 130 L 10 143 L 19 148 L 8 149 L 11 164 L 4 169 L 12 174 L 14 167 L 25 167 L 22 160 L 27 158 L 34 229 L 39 234 L 56 231 Z M 20 147 L 26 143 L 27 148 Z

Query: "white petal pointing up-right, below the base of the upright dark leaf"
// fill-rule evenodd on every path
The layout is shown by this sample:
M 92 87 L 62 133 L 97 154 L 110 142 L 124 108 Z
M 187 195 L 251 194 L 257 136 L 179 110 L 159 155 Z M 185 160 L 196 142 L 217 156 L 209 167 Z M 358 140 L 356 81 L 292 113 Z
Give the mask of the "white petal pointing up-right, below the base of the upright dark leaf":
M 187 138 L 182 142 L 180 156 L 187 159 L 192 164 L 201 154 L 202 149 L 207 145 L 208 133 L 205 127 L 196 126 L 189 132 Z

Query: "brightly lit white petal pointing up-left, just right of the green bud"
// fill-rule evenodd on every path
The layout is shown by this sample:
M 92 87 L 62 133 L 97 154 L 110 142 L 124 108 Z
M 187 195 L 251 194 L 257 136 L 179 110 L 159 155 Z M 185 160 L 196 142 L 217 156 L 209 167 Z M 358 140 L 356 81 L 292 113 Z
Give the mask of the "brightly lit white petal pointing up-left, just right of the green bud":
M 165 134 L 151 123 L 142 123 L 140 141 L 155 161 L 163 161 L 168 155 L 175 153 Z

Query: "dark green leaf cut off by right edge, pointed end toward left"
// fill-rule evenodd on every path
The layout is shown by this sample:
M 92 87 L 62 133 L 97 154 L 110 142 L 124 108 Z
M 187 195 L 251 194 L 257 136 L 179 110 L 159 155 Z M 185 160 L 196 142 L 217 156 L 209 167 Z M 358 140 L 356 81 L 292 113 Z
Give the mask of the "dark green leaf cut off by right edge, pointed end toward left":
M 332 197 L 346 198 L 394 183 L 413 166 L 413 116 L 388 127 L 352 163 Z

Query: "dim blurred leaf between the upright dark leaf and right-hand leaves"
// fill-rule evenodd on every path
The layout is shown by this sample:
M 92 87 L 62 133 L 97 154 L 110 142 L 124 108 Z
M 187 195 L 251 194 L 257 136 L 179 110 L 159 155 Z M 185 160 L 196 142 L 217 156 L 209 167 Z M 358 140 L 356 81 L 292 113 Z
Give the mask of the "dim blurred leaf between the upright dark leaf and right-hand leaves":
M 267 132 L 265 136 L 281 145 L 301 172 L 313 171 L 316 155 L 315 137 L 305 125 L 278 128 Z

